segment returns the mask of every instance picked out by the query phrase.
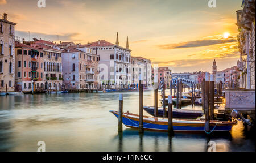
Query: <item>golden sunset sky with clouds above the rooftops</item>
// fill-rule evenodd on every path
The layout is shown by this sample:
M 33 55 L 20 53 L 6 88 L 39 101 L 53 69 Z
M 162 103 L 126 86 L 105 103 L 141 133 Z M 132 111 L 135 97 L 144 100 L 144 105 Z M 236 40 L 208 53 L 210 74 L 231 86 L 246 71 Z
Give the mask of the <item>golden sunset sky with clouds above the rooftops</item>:
M 17 23 L 15 36 L 86 44 L 106 40 L 172 72 L 221 71 L 239 59 L 236 11 L 242 0 L 0 0 L 0 14 Z M 57 37 L 59 36 L 59 37 Z M 59 39 L 59 40 L 58 40 Z

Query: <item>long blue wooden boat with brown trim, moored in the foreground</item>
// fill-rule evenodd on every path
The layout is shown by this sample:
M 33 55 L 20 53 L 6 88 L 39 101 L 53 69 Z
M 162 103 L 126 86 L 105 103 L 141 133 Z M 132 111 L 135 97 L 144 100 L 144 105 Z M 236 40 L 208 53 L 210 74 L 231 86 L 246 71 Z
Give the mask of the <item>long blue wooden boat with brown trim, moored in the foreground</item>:
M 118 118 L 118 111 L 110 111 Z M 131 128 L 139 128 L 139 115 L 131 113 L 123 113 L 123 124 Z M 210 131 L 230 131 L 237 121 L 210 121 Z M 168 132 L 168 118 L 157 118 L 143 116 L 143 128 L 150 131 Z M 205 121 L 173 119 L 174 132 L 205 132 Z

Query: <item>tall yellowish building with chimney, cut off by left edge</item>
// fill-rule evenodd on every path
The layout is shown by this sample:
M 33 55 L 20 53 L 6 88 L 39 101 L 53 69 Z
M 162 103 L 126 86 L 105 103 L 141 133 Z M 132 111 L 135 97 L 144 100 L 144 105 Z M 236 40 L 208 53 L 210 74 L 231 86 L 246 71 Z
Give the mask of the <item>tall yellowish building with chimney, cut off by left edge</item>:
M 14 91 L 15 78 L 15 27 L 16 23 L 7 20 L 7 14 L 0 19 L 0 84 L 2 92 Z

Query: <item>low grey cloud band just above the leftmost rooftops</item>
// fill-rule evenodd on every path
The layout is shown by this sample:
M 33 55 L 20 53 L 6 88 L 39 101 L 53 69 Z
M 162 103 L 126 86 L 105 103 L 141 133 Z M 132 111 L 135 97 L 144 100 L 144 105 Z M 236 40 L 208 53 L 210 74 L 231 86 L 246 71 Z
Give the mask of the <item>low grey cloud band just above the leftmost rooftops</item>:
M 16 31 L 15 33 L 16 36 L 19 36 L 21 38 L 25 38 L 26 40 L 28 40 L 28 32 L 26 31 Z M 64 34 L 46 34 L 46 33 L 38 33 L 38 32 L 30 32 L 30 40 L 32 40 L 32 38 L 42 38 L 43 40 L 57 40 L 57 35 L 59 36 L 59 40 L 61 41 L 80 41 L 77 40 L 77 36 L 80 35 L 80 33 L 64 33 Z

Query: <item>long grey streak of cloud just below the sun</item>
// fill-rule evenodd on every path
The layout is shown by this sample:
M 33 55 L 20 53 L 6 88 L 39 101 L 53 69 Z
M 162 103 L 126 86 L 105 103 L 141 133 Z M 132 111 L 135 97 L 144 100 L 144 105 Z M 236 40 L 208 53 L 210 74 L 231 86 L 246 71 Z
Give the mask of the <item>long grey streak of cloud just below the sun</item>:
M 161 49 L 196 48 L 196 47 L 202 47 L 202 46 L 226 44 L 230 42 L 237 42 L 237 40 L 233 36 L 224 38 L 222 35 L 215 35 L 215 36 L 204 37 L 203 40 L 180 42 L 176 44 L 158 45 L 158 47 Z

